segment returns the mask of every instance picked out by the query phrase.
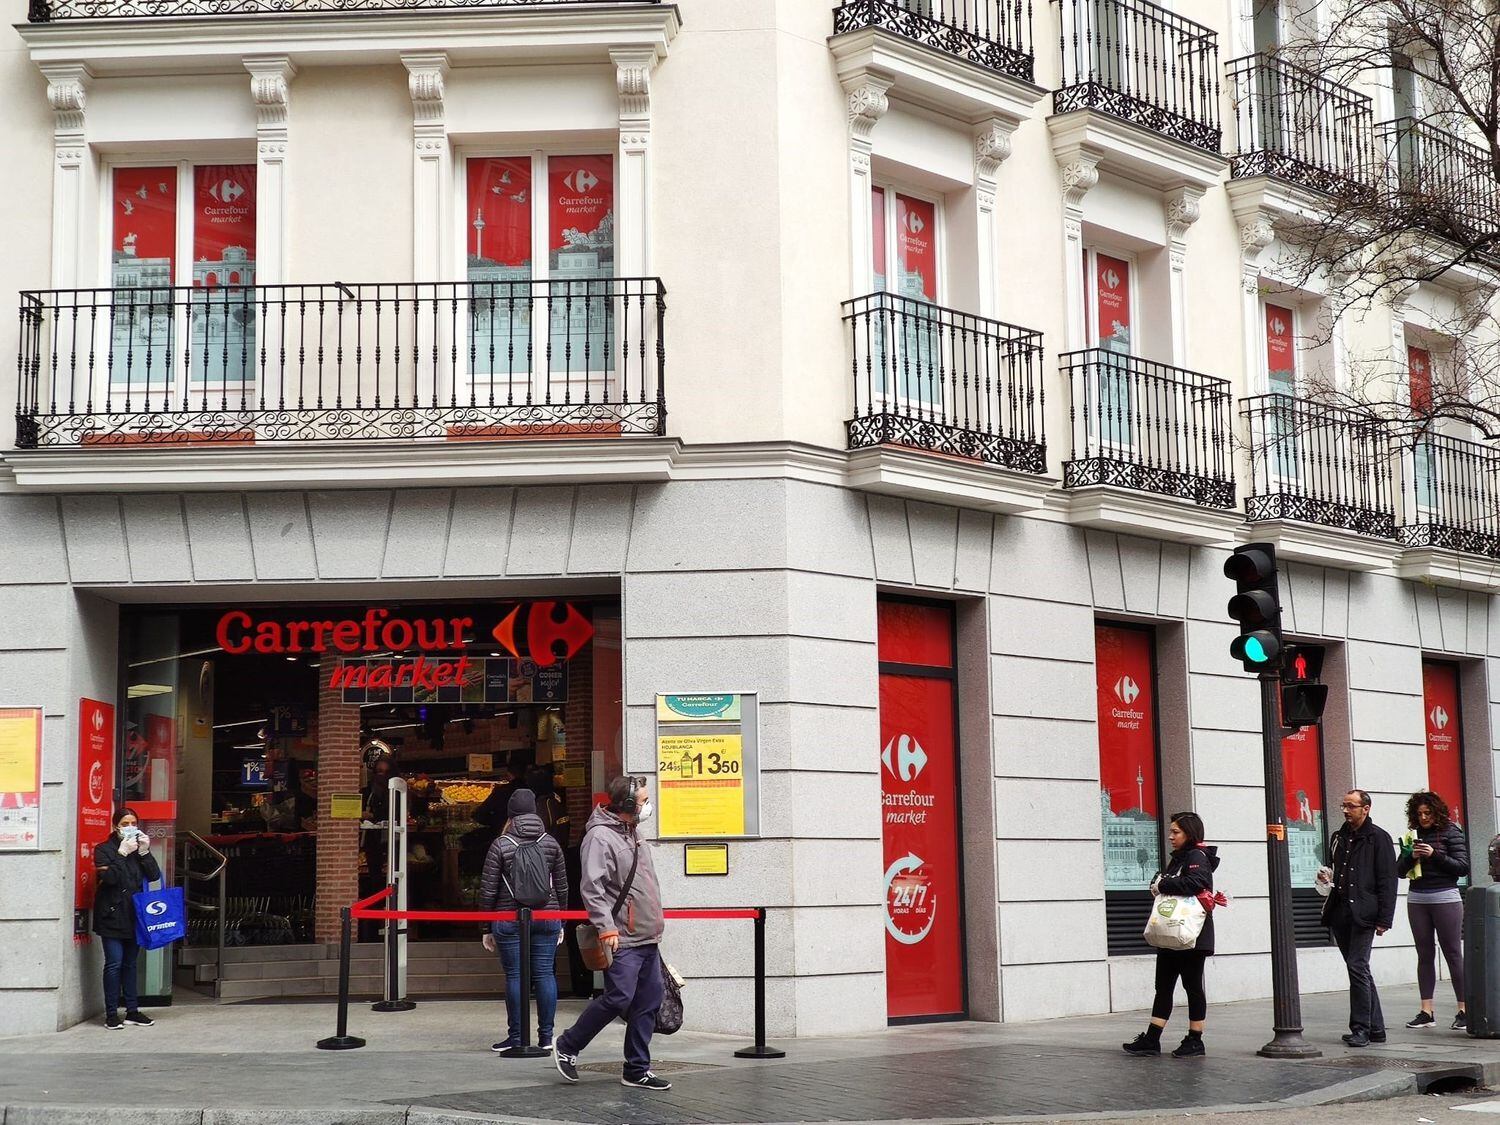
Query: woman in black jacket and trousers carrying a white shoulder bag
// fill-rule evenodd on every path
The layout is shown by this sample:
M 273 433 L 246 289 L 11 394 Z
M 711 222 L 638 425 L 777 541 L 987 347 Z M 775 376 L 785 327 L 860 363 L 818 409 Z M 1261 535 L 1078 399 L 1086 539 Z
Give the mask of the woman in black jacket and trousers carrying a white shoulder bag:
M 1214 890 L 1214 868 L 1218 867 L 1218 849 L 1203 843 L 1203 819 L 1197 813 L 1174 813 L 1167 830 L 1172 858 L 1167 870 L 1152 880 L 1152 894 L 1196 896 Z M 1124 1044 L 1128 1054 L 1161 1054 L 1161 1030 L 1172 1018 L 1172 994 L 1182 980 L 1188 994 L 1188 1034 L 1174 1059 L 1196 1058 L 1203 1050 L 1203 1022 L 1209 1014 L 1208 994 L 1203 992 L 1203 968 L 1214 956 L 1214 912 L 1203 920 L 1203 932 L 1191 950 L 1156 950 L 1156 998 L 1150 1005 L 1150 1023 L 1146 1030 Z

